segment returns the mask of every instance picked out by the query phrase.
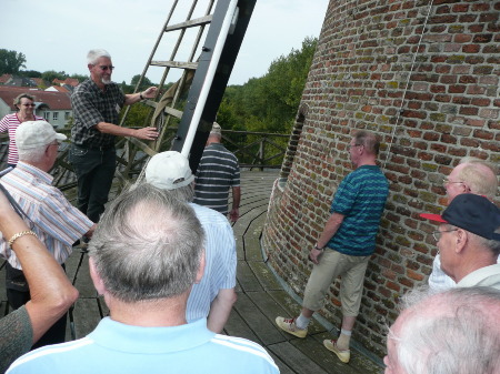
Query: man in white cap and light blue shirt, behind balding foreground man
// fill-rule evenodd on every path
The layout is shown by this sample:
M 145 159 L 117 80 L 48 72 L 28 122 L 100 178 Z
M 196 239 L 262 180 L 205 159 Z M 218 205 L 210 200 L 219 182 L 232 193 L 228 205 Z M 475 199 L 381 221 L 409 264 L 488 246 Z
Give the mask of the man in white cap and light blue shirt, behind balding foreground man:
M 186 156 L 174 151 L 156 154 L 146 168 L 146 181 L 182 202 L 193 199 L 194 176 Z M 206 233 L 206 266 L 200 283 L 188 299 L 187 321 L 208 319 L 207 326 L 220 333 L 237 300 L 236 242 L 228 220 L 214 210 L 190 203 Z

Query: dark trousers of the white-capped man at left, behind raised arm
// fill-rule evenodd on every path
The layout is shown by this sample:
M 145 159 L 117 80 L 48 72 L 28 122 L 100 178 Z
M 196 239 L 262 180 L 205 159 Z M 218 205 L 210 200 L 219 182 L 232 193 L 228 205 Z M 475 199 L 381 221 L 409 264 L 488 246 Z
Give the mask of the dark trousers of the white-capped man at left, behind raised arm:
M 64 269 L 64 265 L 62 265 Z M 31 300 L 28 282 L 22 271 L 13 269 L 9 263 L 6 264 L 6 284 L 7 300 L 12 309 L 17 310 Z M 44 345 L 64 343 L 66 341 L 66 321 L 67 313 L 60 317 L 31 350 L 39 348 Z

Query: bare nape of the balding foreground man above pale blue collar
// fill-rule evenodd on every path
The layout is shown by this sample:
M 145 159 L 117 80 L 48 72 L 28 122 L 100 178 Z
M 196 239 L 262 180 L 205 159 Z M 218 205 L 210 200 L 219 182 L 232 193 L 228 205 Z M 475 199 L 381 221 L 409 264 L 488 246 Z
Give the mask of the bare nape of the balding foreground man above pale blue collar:
M 187 324 L 187 295 L 136 303 L 126 303 L 112 296 L 106 297 L 111 320 L 141 327 L 169 327 Z

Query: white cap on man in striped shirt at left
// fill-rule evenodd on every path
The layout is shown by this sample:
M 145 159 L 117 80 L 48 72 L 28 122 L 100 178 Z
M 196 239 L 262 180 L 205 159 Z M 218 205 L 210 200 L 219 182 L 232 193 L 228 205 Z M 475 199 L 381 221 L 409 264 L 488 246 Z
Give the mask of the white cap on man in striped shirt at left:
M 46 121 L 22 122 L 16 130 L 16 144 L 20 150 L 30 150 L 48 145 L 54 140 L 63 141 L 67 137 L 56 132 Z

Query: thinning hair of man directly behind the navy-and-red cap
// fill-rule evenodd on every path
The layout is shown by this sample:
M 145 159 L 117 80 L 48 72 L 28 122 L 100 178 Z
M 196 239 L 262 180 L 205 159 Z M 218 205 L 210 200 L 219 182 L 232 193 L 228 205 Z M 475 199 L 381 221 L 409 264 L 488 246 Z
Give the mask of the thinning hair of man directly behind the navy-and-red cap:
M 458 178 L 466 182 L 472 193 L 484 195 L 493 200 L 498 191 L 497 168 L 491 163 L 477 159 L 463 158 L 460 164 L 464 164 Z

